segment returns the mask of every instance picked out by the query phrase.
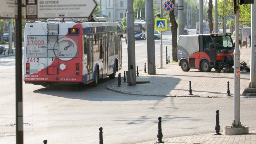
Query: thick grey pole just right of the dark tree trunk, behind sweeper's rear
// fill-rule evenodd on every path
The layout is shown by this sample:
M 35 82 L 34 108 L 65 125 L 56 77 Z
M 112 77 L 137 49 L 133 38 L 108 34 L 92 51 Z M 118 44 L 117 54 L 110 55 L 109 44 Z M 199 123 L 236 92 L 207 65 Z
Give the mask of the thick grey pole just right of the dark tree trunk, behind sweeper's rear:
M 183 0 L 178 0 L 178 37 L 184 34 Z

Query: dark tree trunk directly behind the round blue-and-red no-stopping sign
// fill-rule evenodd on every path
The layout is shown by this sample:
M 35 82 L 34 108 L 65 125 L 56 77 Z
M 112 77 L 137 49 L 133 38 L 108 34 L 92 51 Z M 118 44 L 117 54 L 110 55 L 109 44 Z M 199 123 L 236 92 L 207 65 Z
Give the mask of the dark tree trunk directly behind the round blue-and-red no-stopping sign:
M 175 4 L 175 0 L 170 0 L 173 4 Z M 174 9 L 170 11 L 170 23 L 171 23 L 171 31 L 172 31 L 172 60 L 178 62 L 177 57 L 177 22 L 174 15 Z

